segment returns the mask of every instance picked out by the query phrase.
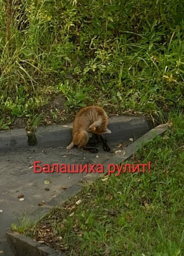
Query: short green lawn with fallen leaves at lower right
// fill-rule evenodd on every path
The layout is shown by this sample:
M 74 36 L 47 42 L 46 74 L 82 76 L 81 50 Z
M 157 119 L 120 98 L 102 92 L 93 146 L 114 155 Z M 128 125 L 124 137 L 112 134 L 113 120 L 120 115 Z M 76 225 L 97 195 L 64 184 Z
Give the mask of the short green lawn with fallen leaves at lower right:
M 181 256 L 183 118 L 179 112 L 170 113 L 168 131 L 127 162 L 151 161 L 151 173 L 111 174 L 105 182 L 98 179 L 37 223 L 14 226 L 14 230 L 72 256 Z

